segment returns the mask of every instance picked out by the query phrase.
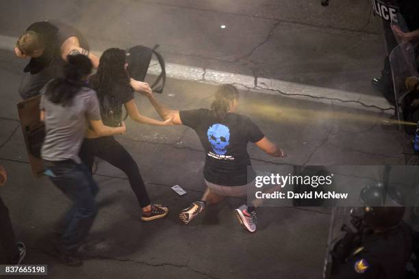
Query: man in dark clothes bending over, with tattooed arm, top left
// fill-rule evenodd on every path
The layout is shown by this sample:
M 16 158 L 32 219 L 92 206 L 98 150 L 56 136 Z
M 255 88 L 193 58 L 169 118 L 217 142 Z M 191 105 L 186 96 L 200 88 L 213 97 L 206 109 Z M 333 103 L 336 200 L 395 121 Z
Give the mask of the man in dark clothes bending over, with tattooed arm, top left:
M 99 58 L 89 52 L 84 36 L 60 21 L 41 21 L 30 25 L 18 38 L 14 53 L 20 58 L 30 58 L 23 70 L 27 74 L 19 87 L 23 99 L 40 94 L 48 81 L 60 77 L 62 65 L 69 54 L 84 54 L 90 58 L 94 68 L 99 65 Z

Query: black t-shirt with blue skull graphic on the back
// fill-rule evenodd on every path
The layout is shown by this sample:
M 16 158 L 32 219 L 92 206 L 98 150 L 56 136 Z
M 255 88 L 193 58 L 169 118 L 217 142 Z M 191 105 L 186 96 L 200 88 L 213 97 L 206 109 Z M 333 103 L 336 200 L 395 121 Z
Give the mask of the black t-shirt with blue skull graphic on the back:
M 248 142 L 259 142 L 264 137 L 259 127 L 247 116 L 227 114 L 216 120 L 209 109 L 180 111 L 181 122 L 198 134 L 206 152 L 204 177 L 218 185 L 240 186 L 251 182 L 255 172 L 251 166 Z

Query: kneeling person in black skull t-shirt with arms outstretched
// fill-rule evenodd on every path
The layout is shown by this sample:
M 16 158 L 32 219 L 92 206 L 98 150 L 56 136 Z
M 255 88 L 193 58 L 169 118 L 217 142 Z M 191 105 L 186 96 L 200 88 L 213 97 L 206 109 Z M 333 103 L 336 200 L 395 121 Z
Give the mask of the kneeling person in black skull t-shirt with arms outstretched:
M 248 170 L 252 172 L 250 176 L 255 178 L 247 152 L 249 142 L 255 143 L 268 155 L 285 157 L 285 152 L 272 144 L 255 122 L 235 113 L 239 92 L 233 85 L 220 85 L 211 110 L 170 110 L 160 105 L 152 94 L 148 96 L 163 119 L 173 118 L 174 124 L 194 129 L 206 152 L 204 178 L 207 189 L 201 200 L 193 202 L 180 213 L 180 219 L 186 224 L 208 204 L 220 202 L 225 197 L 247 196 L 248 187 L 254 185 L 248 181 Z M 235 210 L 240 223 L 251 233 L 256 230 L 256 206 L 252 203 L 243 204 Z

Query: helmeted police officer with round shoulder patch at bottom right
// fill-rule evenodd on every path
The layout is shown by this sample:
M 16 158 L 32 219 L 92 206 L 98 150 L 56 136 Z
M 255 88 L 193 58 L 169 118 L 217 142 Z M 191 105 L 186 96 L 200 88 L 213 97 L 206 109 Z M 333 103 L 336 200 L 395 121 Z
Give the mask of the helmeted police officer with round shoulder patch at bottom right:
M 401 195 L 395 193 L 389 198 L 380 186 L 362 190 L 361 200 L 366 206 L 351 212 L 356 231 L 342 228 L 346 234 L 331 251 L 331 278 L 405 278 L 412 249 L 411 230 L 402 222 L 405 207 L 397 198 Z

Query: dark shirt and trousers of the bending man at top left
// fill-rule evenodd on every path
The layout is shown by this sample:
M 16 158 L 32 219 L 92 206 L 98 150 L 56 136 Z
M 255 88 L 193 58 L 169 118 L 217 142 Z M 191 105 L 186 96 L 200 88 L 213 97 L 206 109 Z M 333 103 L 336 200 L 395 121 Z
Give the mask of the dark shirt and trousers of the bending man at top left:
M 77 29 L 60 21 L 33 23 L 27 31 L 36 32 L 45 44 L 45 49 L 40 57 L 31 58 L 23 70 L 27 73 L 19 86 L 19 94 L 23 99 L 38 95 L 48 81 L 62 75 L 64 59 L 61 57 L 61 46 L 65 40 L 77 37 L 81 48 L 87 51 L 90 49 L 87 40 Z

